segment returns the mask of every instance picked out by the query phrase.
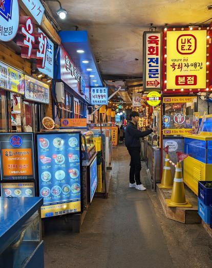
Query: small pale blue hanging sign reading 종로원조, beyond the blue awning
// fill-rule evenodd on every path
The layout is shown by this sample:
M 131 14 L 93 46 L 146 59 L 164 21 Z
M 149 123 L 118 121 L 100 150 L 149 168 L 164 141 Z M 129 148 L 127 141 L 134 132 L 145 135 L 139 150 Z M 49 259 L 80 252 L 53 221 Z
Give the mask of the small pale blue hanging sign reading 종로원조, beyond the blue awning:
M 92 87 L 91 88 L 91 105 L 108 105 L 108 88 Z

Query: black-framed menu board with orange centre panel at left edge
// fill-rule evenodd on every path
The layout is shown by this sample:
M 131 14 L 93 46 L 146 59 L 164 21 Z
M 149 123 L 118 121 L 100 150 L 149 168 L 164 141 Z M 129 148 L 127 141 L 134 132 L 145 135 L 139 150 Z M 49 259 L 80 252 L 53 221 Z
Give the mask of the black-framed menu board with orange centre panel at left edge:
M 0 133 L 1 196 L 34 197 L 33 133 Z

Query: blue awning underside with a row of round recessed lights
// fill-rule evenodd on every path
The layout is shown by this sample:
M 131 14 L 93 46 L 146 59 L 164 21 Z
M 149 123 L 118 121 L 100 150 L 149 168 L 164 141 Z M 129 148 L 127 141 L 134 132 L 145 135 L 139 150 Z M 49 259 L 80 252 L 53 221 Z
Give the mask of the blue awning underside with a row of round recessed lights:
M 94 57 L 87 31 L 60 31 L 61 43 L 71 56 L 90 87 L 103 86 L 103 81 Z M 78 53 L 77 50 L 84 51 Z M 81 51 L 81 52 L 82 52 Z M 88 63 L 83 63 L 88 61 Z M 87 70 L 92 69 L 92 70 Z M 90 77 L 90 75 L 92 75 Z

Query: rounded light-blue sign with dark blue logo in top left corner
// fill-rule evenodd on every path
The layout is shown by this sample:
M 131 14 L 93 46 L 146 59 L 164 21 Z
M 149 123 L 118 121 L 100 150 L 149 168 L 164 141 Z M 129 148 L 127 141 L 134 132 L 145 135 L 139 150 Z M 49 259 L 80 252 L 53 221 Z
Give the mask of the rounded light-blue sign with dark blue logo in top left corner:
M 0 1 L 0 41 L 11 41 L 18 30 L 18 0 Z

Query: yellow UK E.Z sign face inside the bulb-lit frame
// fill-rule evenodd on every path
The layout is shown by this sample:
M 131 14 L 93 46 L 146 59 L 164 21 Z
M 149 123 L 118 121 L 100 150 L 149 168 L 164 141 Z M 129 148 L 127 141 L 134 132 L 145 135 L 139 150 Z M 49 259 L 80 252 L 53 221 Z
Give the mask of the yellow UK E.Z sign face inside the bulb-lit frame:
M 206 30 L 167 31 L 166 88 L 206 88 Z

